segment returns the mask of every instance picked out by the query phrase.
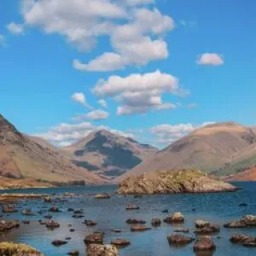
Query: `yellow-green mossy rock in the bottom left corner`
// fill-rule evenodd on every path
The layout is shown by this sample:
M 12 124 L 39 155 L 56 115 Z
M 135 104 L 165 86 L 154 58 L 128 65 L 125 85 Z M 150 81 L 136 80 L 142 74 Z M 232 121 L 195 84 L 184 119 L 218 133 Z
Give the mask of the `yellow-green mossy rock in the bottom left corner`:
M 33 247 L 30 247 L 26 244 L 22 243 L 14 243 L 14 242 L 0 242 L 0 255 L 6 256 L 44 256 L 43 253 L 40 253 Z

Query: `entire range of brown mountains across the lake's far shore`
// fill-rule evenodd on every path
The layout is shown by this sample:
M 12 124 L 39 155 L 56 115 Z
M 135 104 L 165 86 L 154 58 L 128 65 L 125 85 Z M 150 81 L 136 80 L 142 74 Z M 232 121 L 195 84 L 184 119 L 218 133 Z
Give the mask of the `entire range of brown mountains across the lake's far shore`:
M 256 180 L 256 129 L 216 123 L 161 150 L 102 130 L 58 148 L 20 133 L 0 114 L 2 177 L 54 184 L 118 183 L 131 175 L 178 168 L 199 168 L 230 180 Z

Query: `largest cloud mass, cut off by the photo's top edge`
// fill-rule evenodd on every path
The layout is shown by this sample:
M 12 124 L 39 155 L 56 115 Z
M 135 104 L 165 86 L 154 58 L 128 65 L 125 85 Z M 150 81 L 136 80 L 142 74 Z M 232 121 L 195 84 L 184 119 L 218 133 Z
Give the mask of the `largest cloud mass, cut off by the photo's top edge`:
M 128 65 L 142 66 L 169 55 L 163 35 L 174 28 L 174 20 L 152 8 L 154 0 L 21 0 L 24 24 L 9 24 L 23 32 L 37 27 L 59 34 L 79 50 L 96 47 L 107 36 L 113 51 L 86 62 L 73 61 L 81 71 L 109 72 Z

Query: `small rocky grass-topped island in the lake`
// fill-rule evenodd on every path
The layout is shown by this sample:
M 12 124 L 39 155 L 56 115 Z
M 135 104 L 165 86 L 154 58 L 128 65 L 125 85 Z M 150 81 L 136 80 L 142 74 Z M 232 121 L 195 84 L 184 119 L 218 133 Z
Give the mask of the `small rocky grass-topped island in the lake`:
M 119 184 L 119 194 L 176 194 L 236 191 L 238 188 L 197 169 L 145 172 L 127 177 Z

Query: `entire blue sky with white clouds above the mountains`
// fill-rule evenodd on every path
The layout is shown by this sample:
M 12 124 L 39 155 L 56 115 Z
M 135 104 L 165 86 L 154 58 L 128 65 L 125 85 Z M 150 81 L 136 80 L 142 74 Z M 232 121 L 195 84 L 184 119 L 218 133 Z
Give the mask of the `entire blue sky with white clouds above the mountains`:
M 2 0 L 0 113 L 66 146 L 107 129 L 163 148 L 255 125 L 256 2 Z

